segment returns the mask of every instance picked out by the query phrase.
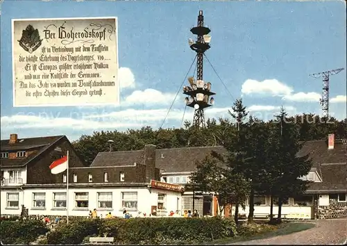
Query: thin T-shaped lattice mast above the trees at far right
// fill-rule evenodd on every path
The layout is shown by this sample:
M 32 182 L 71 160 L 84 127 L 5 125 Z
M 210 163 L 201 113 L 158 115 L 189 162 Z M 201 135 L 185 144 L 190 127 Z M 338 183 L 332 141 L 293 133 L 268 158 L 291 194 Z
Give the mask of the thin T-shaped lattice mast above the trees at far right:
M 319 72 L 316 74 L 310 74 L 310 76 L 314 78 L 322 78 L 323 77 L 323 92 L 322 92 L 322 98 L 319 99 L 319 103 L 322 106 L 322 116 L 325 117 L 325 119 L 328 120 L 329 117 L 329 76 L 338 74 L 344 70 L 344 68 L 329 70 L 325 72 Z

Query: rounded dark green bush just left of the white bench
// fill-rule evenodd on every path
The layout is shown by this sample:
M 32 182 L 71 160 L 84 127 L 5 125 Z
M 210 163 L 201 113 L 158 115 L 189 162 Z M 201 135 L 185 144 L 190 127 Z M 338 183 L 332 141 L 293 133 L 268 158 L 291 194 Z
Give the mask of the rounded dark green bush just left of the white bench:
M 78 245 L 86 236 L 98 235 L 101 220 L 81 219 L 73 220 L 69 224 L 58 224 L 54 231 L 47 235 L 49 245 Z

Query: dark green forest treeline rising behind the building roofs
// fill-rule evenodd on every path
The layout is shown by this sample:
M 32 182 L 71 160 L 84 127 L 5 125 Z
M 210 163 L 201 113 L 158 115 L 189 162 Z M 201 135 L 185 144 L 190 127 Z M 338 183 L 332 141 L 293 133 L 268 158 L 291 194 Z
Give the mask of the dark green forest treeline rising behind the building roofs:
M 144 126 L 142 129 L 129 129 L 125 132 L 95 131 L 91 136 L 81 136 L 74 142 L 74 147 L 87 164 L 92 163 L 99 152 L 109 151 L 108 140 L 115 141 L 112 144 L 113 151 L 139 150 L 143 149 L 145 144 L 157 145 L 159 149 L 213 145 L 227 147 L 231 145 L 230 142 L 237 142 L 237 129 L 242 131 L 243 124 L 247 124 L 244 120 L 248 113 L 242 101 L 235 102 L 232 108 L 237 110 L 237 113 L 230 112 L 230 115 L 235 117 L 235 121 L 239 124 L 232 124 L 230 120 L 220 118 L 218 122 L 208 119 L 207 127 L 203 131 L 192 127 L 189 122 L 185 122 L 185 127 L 180 129 L 152 129 L 150 126 Z M 298 129 L 299 140 L 326 139 L 328 133 L 335 133 L 337 139 L 346 138 L 347 119 L 337 121 L 332 118 L 331 124 L 325 124 L 318 115 L 303 114 L 288 117 L 288 120 L 294 122 Z M 269 126 L 273 124 L 273 121 L 264 122 L 264 124 Z

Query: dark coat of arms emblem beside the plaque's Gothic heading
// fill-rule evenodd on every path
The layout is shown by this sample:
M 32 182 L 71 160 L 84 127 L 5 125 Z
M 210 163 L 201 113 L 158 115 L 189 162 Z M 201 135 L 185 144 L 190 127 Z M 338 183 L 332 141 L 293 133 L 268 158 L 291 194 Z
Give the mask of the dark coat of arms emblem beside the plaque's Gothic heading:
M 22 38 L 18 40 L 19 45 L 27 52 L 33 53 L 38 47 L 41 46 L 40 34 L 33 26 L 28 25 L 22 32 Z

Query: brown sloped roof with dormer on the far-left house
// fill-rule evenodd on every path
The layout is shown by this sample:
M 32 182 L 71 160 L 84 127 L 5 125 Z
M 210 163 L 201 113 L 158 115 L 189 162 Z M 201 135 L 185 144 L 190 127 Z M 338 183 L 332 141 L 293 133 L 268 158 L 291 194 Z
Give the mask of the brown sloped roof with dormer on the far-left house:
M 26 158 L 10 159 L 2 158 L 1 167 L 22 167 L 29 162 L 33 161 L 36 156 L 40 156 L 46 149 L 48 149 L 55 142 L 65 138 L 65 136 L 48 136 L 40 138 L 22 138 L 18 139 L 17 142 L 10 144 L 8 139 L 1 140 L 1 152 L 3 151 L 28 151 L 31 149 L 37 149 L 38 151 L 27 156 Z

